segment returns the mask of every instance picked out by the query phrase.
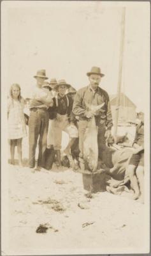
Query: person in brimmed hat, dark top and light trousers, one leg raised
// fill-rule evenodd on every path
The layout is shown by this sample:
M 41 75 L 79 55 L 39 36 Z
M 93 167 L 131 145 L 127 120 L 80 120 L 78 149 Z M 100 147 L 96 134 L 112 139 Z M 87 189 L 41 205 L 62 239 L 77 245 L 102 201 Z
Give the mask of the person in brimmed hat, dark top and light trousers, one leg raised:
M 52 129 L 54 131 L 54 150 L 57 155 L 57 166 L 61 166 L 61 141 L 62 131 L 69 134 L 69 143 L 64 153 L 69 155 L 69 151 L 76 138 L 78 138 L 78 129 L 70 122 L 70 114 L 73 108 L 73 100 L 66 95 L 66 90 L 70 87 L 65 80 L 60 80 L 55 89 L 58 94 L 53 98 L 54 105 L 49 109 L 53 118 Z

